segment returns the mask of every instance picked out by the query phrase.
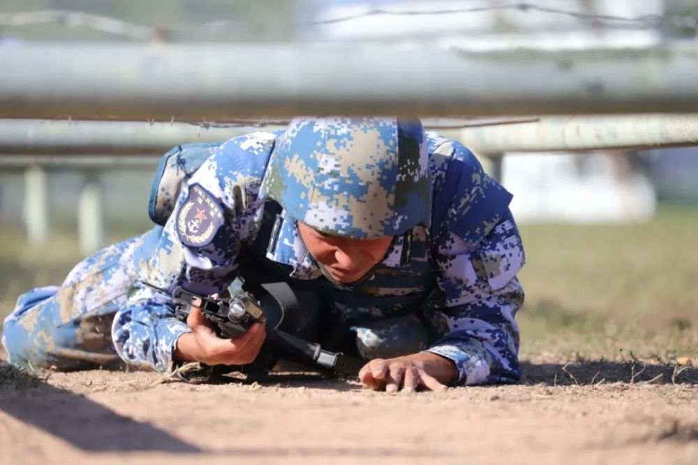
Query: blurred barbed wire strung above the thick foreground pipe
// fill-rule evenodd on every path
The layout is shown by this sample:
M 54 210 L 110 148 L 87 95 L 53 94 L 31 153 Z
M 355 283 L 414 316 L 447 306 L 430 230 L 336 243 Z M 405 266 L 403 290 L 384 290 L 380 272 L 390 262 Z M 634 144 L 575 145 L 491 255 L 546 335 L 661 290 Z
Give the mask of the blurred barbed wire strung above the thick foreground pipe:
M 563 15 L 572 17 L 581 21 L 601 22 L 605 26 L 611 28 L 622 27 L 623 29 L 635 28 L 645 29 L 648 27 L 659 26 L 662 22 L 671 22 L 681 27 L 696 27 L 698 20 L 690 15 L 672 16 L 668 18 L 664 15 L 648 14 L 634 17 L 617 16 L 617 15 L 602 15 L 594 13 L 583 13 L 574 10 L 565 10 L 562 8 L 551 8 L 548 6 L 540 6 L 535 3 L 515 2 L 491 6 L 475 6 L 464 8 L 446 8 L 440 10 L 392 10 L 385 8 L 373 8 L 362 13 L 346 15 L 343 17 L 334 17 L 327 20 L 313 20 L 304 22 L 302 25 L 307 26 L 322 26 L 328 24 L 338 24 L 341 22 L 350 22 L 362 17 L 373 16 L 416 16 L 416 15 L 455 15 L 459 13 L 484 13 L 496 10 L 511 10 L 519 13 L 547 13 L 551 15 Z M 135 40 L 150 40 L 154 38 L 164 38 L 167 33 L 185 32 L 204 30 L 208 31 L 209 35 L 225 33 L 230 30 L 230 26 L 239 26 L 245 24 L 243 20 L 216 20 L 212 22 L 204 22 L 198 24 L 174 24 L 162 26 L 146 26 L 135 22 L 119 20 L 115 17 L 105 15 L 96 15 L 93 13 L 85 13 L 82 11 L 73 10 L 36 10 L 24 11 L 16 13 L 0 13 L 0 26 L 31 26 L 36 24 L 57 24 L 66 27 L 86 27 L 109 33 L 114 36 L 121 36 Z

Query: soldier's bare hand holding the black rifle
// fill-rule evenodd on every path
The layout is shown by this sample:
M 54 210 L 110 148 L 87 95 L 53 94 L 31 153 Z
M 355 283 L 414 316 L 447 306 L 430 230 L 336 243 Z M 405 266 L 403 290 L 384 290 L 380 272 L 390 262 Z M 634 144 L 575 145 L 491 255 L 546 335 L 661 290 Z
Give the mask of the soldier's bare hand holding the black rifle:
M 199 308 L 193 307 L 186 319 L 191 333 L 177 340 L 174 358 L 206 365 L 246 365 L 252 363 L 266 337 L 265 326 L 255 323 L 241 337 L 223 339 L 207 321 Z

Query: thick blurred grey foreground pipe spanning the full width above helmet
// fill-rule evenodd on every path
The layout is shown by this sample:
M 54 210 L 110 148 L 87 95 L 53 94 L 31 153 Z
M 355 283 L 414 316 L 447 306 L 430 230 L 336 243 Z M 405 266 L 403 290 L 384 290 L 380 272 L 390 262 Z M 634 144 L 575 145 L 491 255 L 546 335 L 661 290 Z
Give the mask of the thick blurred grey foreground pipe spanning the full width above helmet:
M 0 117 L 226 121 L 297 114 L 695 112 L 698 49 L 8 44 Z

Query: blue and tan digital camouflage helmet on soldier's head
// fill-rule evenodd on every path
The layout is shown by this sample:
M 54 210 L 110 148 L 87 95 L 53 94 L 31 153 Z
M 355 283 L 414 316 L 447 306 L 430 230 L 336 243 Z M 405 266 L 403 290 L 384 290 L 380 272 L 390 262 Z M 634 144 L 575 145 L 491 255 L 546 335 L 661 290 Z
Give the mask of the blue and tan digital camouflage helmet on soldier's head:
M 277 139 L 260 190 L 286 216 L 350 238 L 428 227 L 424 128 L 398 118 L 296 118 Z

